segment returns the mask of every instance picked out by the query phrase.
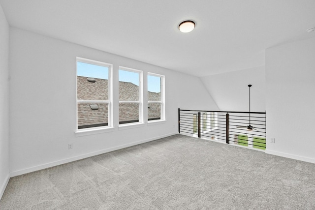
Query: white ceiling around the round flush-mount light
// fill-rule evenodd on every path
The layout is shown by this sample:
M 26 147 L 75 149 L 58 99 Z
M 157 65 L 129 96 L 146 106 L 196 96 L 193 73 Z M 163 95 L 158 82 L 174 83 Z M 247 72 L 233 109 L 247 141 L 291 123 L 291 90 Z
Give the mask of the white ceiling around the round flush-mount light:
M 195 76 L 265 64 L 315 32 L 315 0 L 0 0 L 9 25 Z M 193 20 L 195 30 L 178 25 Z

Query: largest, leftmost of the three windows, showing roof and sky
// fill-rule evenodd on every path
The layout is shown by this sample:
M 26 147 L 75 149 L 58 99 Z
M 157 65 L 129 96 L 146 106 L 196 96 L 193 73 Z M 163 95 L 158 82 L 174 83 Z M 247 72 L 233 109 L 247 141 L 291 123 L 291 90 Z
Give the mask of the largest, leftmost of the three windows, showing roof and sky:
M 77 58 L 77 128 L 111 126 L 112 65 Z

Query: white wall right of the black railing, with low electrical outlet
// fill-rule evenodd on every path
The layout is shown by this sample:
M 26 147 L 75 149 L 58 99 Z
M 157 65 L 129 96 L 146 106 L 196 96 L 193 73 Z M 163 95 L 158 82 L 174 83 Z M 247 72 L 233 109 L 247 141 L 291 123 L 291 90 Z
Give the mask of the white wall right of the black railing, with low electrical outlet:
M 315 38 L 266 50 L 266 152 L 315 163 Z

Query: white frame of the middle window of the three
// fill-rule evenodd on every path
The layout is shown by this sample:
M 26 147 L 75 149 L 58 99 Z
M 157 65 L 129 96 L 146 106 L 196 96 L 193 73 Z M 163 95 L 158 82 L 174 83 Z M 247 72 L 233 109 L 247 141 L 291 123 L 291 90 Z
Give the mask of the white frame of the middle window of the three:
M 119 66 L 118 70 L 130 71 L 130 72 L 134 72 L 134 73 L 139 74 L 139 100 L 138 101 L 119 100 L 119 105 L 120 105 L 120 103 L 139 103 L 139 121 L 119 124 L 119 127 L 126 127 L 126 126 L 130 126 L 130 125 L 142 124 L 143 123 L 143 82 L 142 82 L 143 81 L 143 71 L 138 70 L 138 69 L 124 67 L 124 66 Z M 119 77 L 119 73 L 118 73 L 118 77 Z M 120 82 L 119 79 L 118 79 L 118 82 Z M 120 94 L 120 93 L 118 92 L 118 94 Z M 120 112 L 120 110 L 119 110 L 119 112 Z M 118 119 L 119 118 L 120 118 L 120 116 L 118 116 Z

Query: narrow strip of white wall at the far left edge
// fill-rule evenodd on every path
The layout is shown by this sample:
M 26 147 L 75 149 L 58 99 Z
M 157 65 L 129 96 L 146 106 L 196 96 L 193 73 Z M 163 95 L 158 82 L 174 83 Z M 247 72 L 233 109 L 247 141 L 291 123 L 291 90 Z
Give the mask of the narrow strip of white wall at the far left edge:
M 9 180 L 9 25 L 0 5 L 0 198 Z

